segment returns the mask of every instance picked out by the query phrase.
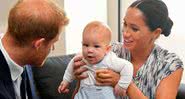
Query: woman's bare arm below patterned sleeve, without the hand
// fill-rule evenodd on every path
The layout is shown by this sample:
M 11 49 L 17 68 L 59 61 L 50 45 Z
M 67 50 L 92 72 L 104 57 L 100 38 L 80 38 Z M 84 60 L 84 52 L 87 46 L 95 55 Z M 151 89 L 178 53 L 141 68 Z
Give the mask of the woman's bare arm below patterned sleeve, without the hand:
M 156 99 L 176 99 L 182 71 L 182 68 L 178 69 L 160 82 L 156 90 Z M 134 83 L 130 84 L 127 95 L 131 99 L 147 99 Z

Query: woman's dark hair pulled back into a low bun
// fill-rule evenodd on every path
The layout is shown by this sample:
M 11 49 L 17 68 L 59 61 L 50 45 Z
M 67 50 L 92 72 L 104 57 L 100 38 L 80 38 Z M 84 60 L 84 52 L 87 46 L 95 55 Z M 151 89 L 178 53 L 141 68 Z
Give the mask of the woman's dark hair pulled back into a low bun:
M 137 0 L 130 7 L 138 8 L 145 16 L 144 20 L 151 31 L 162 29 L 164 36 L 169 36 L 173 21 L 168 16 L 168 8 L 161 0 Z

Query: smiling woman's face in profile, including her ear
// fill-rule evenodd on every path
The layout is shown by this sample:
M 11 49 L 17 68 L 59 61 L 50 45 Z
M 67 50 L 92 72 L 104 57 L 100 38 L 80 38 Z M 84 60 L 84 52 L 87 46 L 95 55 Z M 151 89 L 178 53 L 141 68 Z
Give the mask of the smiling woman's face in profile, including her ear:
M 131 52 L 142 52 L 154 46 L 156 33 L 152 33 L 137 8 L 128 8 L 123 22 L 124 47 Z

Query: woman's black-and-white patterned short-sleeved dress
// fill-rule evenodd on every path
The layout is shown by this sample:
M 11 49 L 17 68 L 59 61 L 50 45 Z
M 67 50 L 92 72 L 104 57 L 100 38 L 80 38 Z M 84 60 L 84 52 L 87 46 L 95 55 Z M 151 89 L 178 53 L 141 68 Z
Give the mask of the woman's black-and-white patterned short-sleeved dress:
M 131 61 L 130 52 L 123 47 L 122 43 L 113 43 L 112 50 L 118 57 Z M 155 45 L 147 61 L 137 71 L 133 82 L 145 96 L 155 99 L 160 81 L 179 68 L 183 68 L 183 63 L 176 54 Z

